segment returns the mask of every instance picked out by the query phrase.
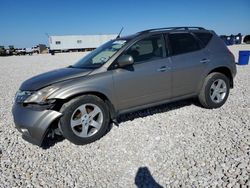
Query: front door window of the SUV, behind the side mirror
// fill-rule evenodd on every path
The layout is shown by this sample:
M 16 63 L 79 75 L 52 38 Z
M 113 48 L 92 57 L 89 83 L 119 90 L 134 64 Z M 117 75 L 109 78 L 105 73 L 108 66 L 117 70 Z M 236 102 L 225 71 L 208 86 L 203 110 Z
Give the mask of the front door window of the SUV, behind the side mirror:
M 133 44 L 125 52 L 131 55 L 134 63 L 161 59 L 164 57 L 164 38 L 162 35 L 153 35 Z

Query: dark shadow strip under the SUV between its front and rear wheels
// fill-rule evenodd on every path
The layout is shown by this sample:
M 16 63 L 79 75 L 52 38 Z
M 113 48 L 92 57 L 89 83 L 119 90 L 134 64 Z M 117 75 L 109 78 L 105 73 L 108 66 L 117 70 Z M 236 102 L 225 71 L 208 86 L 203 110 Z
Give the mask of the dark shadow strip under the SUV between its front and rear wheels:
M 122 114 L 117 117 L 116 122 L 113 122 L 115 125 L 119 126 L 120 123 L 126 122 L 126 121 L 132 121 L 137 118 L 144 118 L 147 116 L 152 116 L 154 114 L 164 113 L 172 110 L 176 110 L 185 106 L 195 105 L 201 107 L 199 102 L 196 99 L 186 99 L 181 100 L 177 102 L 162 104 L 150 108 L 146 108 L 143 110 L 138 110 L 131 113 Z

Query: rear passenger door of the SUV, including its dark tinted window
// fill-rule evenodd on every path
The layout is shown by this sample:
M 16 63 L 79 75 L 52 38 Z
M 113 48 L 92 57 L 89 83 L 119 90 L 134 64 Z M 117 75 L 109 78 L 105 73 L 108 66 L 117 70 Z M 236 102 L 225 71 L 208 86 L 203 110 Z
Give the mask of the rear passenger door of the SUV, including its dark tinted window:
M 209 62 L 209 53 L 189 32 L 170 33 L 168 42 L 171 46 L 173 97 L 196 93 Z

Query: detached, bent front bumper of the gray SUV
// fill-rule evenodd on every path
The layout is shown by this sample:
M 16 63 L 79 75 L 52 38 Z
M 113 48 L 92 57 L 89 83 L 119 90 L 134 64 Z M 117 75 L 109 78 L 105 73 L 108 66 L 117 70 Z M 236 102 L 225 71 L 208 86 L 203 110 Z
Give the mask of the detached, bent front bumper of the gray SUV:
M 14 123 L 23 139 L 41 146 L 49 125 L 62 114 L 53 110 L 33 110 L 15 103 L 12 108 Z

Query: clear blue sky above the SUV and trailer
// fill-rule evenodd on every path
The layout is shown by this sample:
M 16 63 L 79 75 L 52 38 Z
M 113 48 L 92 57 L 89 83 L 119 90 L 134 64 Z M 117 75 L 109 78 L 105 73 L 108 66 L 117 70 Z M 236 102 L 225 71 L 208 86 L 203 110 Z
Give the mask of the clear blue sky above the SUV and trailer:
M 0 0 L 0 46 L 48 44 L 48 35 L 114 34 L 201 26 L 250 34 L 250 0 Z

